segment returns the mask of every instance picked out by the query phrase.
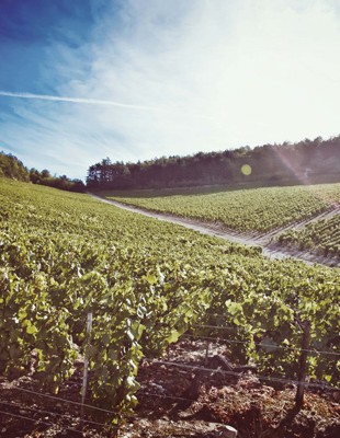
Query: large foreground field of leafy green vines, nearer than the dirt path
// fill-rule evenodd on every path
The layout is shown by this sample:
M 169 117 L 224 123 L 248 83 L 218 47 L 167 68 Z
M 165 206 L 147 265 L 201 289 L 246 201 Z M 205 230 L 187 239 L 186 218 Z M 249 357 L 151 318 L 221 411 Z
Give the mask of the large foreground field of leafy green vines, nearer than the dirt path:
M 335 198 L 339 185 L 327 193 Z M 223 315 L 240 342 L 231 360 L 288 379 L 309 321 L 310 378 L 339 384 L 338 269 L 269 261 L 258 249 L 38 185 L 0 180 L 0 373 L 33 366 L 57 392 L 86 355 L 92 402 L 118 422 L 137 403 L 140 360 L 189 330 L 213 335 L 194 325 Z

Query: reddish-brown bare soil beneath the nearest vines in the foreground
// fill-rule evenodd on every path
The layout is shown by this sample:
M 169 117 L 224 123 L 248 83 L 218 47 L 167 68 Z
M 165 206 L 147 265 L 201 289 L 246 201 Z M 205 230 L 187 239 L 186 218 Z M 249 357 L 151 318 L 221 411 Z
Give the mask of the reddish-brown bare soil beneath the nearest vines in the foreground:
M 211 356 L 227 358 L 226 345 L 213 344 Z M 61 387 L 58 400 L 33 393 L 42 391 L 33 377 L 12 382 L 1 378 L 0 437 L 214 438 L 224 436 L 228 425 L 240 438 L 339 438 L 339 391 L 307 390 L 304 407 L 297 412 L 294 385 L 263 384 L 254 372 L 228 376 L 205 365 L 205 343 L 188 338 L 172 345 L 162 361 L 144 360 L 139 404 L 116 435 L 89 423 L 103 423 L 106 415 L 90 407 L 81 428 L 80 406 L 65 402 L 80 400 L 81 362 Z

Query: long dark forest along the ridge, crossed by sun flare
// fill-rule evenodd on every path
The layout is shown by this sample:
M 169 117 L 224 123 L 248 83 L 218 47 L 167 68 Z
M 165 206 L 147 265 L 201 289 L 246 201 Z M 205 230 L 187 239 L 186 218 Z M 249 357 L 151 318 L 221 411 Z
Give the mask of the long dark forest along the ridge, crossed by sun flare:
M 296 143 L 246 146 L 186 157 L 90 166 L 91 189 L 154 188 L 213 184 L 284 185 L 340 182 L 340 136 Z

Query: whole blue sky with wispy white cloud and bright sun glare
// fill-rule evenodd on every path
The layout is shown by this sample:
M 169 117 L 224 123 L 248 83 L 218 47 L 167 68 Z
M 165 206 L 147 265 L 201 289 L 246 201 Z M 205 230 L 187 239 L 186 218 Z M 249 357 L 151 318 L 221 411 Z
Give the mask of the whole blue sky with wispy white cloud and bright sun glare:
M 91 164 L 340 134 L 338 0 L 0 0 L 0 151 Z

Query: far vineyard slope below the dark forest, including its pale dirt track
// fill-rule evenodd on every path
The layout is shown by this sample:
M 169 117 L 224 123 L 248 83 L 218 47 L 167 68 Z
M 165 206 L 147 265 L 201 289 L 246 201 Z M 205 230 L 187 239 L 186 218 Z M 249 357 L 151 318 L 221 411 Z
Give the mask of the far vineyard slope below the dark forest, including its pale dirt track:
M 227 191 L 216 187 L 104 191 L 107 199 L 170 215 L 230 241 L 259 245 L 271 257 L 339 266 L 340 184 Z M 167 219 L 167 216 L 160 216 Z M 168 220 L 171 220 L 168 218 Z

